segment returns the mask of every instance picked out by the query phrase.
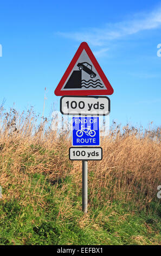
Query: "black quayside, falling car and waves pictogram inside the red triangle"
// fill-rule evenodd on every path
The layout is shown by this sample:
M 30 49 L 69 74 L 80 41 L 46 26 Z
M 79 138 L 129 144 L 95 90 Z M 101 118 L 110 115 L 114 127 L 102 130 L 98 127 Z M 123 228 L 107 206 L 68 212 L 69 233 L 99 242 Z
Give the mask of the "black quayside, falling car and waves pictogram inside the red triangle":
M 100 79 L 92 79 L 96 77 L 95 72 L 92 69 L 92 65 L 89 64 L 88 62 L 79 62 L 76 67 L 78 67 L 78 70 L 73 70 L 72 74 L 70 75 L 64 89 L 72 89 L 72 88 L 104 88 L 102 86 L 102 83 Z M 85 74 L 82 74 L 83 72 L 86 72 L 86 74 L 89 77 L 89 80 L 87 80 L 87 75 L 86 79 L 82 79 Z M 90 79 L 91 78 L 91 79 Z

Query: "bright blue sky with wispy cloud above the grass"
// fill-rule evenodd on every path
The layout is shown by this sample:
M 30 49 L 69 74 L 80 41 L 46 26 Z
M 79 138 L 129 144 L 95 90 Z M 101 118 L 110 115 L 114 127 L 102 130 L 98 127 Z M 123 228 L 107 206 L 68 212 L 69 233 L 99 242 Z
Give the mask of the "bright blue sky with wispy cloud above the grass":
M 54 90 L 87 41 L 114 93 L 110 120 L 160 125 L 161 1 L 1 1 L 0 103 L 48 116 Z

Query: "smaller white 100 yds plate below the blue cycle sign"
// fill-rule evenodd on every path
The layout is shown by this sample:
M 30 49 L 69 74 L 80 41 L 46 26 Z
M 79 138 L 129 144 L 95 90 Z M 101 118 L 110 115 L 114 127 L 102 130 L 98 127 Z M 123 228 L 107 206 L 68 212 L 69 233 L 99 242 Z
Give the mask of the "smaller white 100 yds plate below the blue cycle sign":
M 69 148 L 70 160 L 102 160 L 102 148 Z

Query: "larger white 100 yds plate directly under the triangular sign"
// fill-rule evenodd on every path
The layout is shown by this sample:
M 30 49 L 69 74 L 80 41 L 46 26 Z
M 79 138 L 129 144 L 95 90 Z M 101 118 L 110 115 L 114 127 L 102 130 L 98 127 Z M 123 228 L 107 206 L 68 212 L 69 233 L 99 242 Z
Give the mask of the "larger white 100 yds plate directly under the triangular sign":
M 110 99 L 106 96 L 62 96 L 60 112 L 65 115 L 108 115 Z

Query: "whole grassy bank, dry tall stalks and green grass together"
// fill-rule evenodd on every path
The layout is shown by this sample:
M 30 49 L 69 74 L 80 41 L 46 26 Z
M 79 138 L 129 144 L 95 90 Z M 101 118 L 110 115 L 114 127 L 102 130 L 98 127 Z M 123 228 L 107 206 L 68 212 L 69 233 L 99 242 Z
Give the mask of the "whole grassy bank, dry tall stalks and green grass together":
M 57 135 L 47 119 L 35 124 L 32 112 L 1 109 L 1 245 L 161 244 L 160 133 L 113 127 L 101 138 L 103 160 L 88 162 L 83 215 L 69 131 Z

